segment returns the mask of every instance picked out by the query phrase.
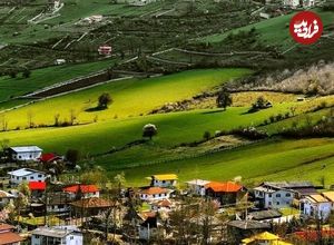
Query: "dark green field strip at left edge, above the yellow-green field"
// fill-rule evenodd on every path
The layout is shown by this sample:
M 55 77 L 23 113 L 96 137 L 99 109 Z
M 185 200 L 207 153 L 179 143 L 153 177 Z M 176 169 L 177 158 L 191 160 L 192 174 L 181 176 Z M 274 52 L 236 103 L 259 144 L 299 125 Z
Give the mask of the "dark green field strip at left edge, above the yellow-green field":
M 11 97 L 22 96 L 53 84 L 66 81 L 78 76 L 85 76 L 94 71 L 110 67 L 115 60 L 102 60 L 89 63 L 53 66 L 31 71 L 29 78 L 17 78 L 8 76 L 0 77 L 0 101 Z M 0 104 L 0 110 L 3 107 Z

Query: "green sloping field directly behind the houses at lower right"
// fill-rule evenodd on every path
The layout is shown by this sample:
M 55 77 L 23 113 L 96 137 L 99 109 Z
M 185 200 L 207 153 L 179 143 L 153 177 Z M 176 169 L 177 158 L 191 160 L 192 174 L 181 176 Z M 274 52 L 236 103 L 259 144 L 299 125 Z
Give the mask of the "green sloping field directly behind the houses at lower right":
M 324 158 L 324 159 L 322 159 Z M 326 165 L 324 168 L 323 165 Z M 121 169 L 109 171 L 112 176 Z M 124 169 L 128 185 L 147 184 L 146 176 L 175 173 L 193 178 L 228 180 L 242 176 L 248 185 L 263 180 L 313 180 L 334 174 L 334 139 L 268 140 L 204 157 Z

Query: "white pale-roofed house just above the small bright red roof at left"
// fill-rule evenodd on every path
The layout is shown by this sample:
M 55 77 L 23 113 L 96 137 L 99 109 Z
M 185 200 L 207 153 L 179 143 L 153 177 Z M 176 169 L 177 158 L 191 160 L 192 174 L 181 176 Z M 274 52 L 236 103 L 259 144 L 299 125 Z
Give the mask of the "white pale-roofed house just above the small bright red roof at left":
M 47 176 L 45 173 L 30 169 L 30 168 L 20 168 L 13 171 L 9 171 L 9 183 L 11 185 L 19 185 L 22 182 L 45 182 Z

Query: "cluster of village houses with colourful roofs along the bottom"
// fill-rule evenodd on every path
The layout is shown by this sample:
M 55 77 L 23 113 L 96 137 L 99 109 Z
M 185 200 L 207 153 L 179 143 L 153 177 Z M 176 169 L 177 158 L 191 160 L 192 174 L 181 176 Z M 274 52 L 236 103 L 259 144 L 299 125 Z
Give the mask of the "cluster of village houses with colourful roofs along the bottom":
M 42 154 L 36 146 L 11 147 L 8 153 L 16 161 L 40 163 L 61 159 L 55 154 Z M 275 241 L 275 244 L 283 245 L 288 243 L 269 233 L 273 224 L 288 223 L 293 218 L 324 222 L 334 209 L 334 192 L 320 192 L 320 187 L 311 182 L 264 182 L 250 189 L 237 182 L 193 179 L 179 183 L 175 174 L 159 174 L 149 176 L 147 186 L 124 189 L 116 200 L 108 198 L 107 187 L 82 183 L 53 183 L 50 174 L 35 168 L 24 167 L 8 171 L 8 180 L 10 186 L 0 190 L 0 244 L 20 244 L 24 239 L 36 245 L 84 244 L 84 234 L 79 227 L 101 217 L 117 203 L 122 206 L 118 210 L 119 220 L 135 224 L 134 236 L 138 239 L 150 241 L 158 234 L 161 235 L 164 226 L 159 214 L 164 213 L 168 217 L 170 212 L 179 208 L 179 197 L 189 196 L 214 202 L 217 214 L 226 212 L 229 207 L 244 206 L 243 215 L 236 213 L 235 218 L 226 226 L 228 233 L 237 234 L 237 244 L 254 244 L 256 241 L 272 244 L 271 241 Z M 17 187 L 22 183 L 27 183 L 30 197 L 21 215 L 32 220 L 45 217 L 41 224 L 26 224 L 29 231 L 24 233 L 3 223 L 9 215 L 6 214 L 6 207 L 14 204 L 20 197 Z M 183 186 L 181 190 L 179 186 Z M 138 199 L 140 207 L 145 208 L 129 206 L 129 198 Z M 125 199 L 128 200 L 124 202 Z M 49 216 L 57 217 L 58 224 L 52 224 Z M 105 231 L 104 226 L 99 227 L 100 231 Z M 307 231 L 306 234 L 305 231 L 299 231 L 295 235 L 307 242 L 312 237 L 308 234 L 311 232 Z

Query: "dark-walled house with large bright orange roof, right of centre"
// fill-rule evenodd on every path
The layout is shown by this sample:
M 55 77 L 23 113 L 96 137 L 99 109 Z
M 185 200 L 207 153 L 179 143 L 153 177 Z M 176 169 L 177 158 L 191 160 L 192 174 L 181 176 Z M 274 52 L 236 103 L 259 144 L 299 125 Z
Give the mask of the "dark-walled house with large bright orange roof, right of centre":
M 220 205 L 236 204 L 245 196 L 245 188 L 234 182 L 218 183 L 210 182 L 205 185 L 206 197 L 214 198 Z

